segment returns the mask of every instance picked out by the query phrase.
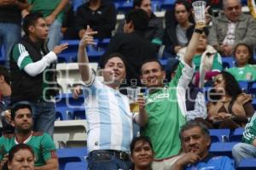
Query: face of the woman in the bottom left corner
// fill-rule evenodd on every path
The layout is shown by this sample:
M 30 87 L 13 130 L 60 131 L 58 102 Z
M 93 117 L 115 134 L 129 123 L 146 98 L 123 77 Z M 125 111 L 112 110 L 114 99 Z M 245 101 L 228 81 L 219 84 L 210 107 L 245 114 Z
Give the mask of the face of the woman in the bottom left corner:
M 30 150 L 19 150 L 14 158 L 8 163 L 9 170 L 33 170 L 34 156 Z

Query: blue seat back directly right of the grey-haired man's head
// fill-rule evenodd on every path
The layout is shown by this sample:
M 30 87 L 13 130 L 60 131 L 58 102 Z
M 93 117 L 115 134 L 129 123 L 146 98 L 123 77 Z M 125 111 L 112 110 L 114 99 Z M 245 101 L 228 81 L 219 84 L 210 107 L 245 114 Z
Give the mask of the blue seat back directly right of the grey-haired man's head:
M 212 138 L 212 143 L 222 142 L 224 136 L 225 139 L 230 137 L 230 129 L 209 129 L 210 136 Z

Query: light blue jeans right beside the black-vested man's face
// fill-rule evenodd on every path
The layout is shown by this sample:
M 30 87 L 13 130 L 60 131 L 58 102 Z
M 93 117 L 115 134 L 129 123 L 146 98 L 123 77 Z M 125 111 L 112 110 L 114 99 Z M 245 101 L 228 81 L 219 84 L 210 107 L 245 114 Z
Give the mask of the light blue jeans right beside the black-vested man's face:
M 52 51 L 55 48 L 55 46 L 59 45 L 61 42 L 61 22 L 59 20 L 55 20 L 49 26 L 48 38 L 48 48 L 50 51 Z

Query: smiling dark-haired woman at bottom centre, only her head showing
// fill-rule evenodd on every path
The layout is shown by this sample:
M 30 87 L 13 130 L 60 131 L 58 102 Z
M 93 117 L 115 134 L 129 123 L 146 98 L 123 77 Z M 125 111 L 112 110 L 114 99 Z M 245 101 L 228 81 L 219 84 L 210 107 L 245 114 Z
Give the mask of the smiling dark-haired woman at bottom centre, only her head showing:
M 136 137 L 131 141 L 132 170 L 151 170 L 154 160 L 153 146 L 148 137 Z

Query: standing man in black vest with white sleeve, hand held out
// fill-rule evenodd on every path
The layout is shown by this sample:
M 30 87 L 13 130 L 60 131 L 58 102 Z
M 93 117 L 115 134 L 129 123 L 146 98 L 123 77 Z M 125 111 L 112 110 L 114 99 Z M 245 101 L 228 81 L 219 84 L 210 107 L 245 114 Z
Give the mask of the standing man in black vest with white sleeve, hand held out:
M 34 130 L 53 134 L 56 91 L 55 61 L 67 44 L 48 50 L 45 41 L 49 28 L 42 14 L 27 14 L 23 20 L 26 35 L 11 52 L 11 102 L 32 102 Z M 49 69 L 49 71 L 48 71 Z

